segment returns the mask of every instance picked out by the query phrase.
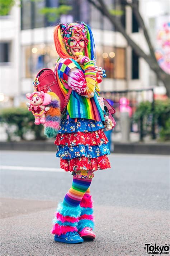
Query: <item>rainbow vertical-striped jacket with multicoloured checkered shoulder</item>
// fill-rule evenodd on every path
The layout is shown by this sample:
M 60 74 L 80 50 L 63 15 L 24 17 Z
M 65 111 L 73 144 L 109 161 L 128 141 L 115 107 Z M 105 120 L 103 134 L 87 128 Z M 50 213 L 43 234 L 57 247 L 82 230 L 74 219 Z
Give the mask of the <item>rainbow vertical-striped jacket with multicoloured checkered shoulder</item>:
M 80 64 L 74 59 L 59 58 L 56 63 L 56 78 L 64 96 L 69 90 L 66 89 L 66 87 L 68 88 L 67 75 L 70 69 L 75 67 L 81 69 L 85 73 L 84 67 L 82 65 L 80 66 Z M 86 118 L 96 121 L 104 121 L 103 111 L 99 105 L 96 92 L 94 97 L 86 98 L 72 90 L 70 100 L 67 105 L 67 112 L 69 113 L 70 118 Z

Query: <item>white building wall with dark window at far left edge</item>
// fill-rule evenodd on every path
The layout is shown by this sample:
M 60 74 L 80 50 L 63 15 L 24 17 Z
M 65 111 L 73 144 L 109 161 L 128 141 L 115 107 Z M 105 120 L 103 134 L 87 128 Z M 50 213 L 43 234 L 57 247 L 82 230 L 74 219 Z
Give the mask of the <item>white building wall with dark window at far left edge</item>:
M 20 95 L 20 8 L 0 16 L 0 102 L 8 107 Z

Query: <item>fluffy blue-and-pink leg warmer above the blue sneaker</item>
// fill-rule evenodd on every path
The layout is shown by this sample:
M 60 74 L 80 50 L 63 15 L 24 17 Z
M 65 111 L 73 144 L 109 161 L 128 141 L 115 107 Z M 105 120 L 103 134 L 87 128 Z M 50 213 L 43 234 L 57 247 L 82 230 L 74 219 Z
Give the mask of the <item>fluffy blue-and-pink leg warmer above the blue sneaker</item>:
M 81 214 L 81 207 L 70 207 L 64 203 L 59 203 L 56 217 L 53 219 L 52 234 L 61 235 L 67 232 L 77 231 L 77 224 Z

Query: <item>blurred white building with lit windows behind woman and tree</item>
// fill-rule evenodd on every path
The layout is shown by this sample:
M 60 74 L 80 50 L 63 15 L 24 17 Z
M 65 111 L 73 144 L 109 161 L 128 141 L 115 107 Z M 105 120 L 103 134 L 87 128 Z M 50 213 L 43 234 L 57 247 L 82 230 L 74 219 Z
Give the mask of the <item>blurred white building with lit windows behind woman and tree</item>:
M 54 68 L 57 53 L 53 44 L 54 23 L 84 21 L 94 34 L 97 65 L 106 70 L 101 90 L 140 89 L 157 84 L 154 73 L 143 59 L 139 59 L 127 45 L 123 35 L 87 0 L 67 0 L 72 10 L 61 15 L 56 22 L 49 22 L 39 10 L 57 7 L 60 1 L 22 0 L 21 8 L 15 5 L 10 14 L 1 16 L 0 73 L 1 99 L 8 98 L 14 105 L 25 100 L 25 93 L 33 91 L 32 82 L 43 67 Z M 121 1 L 105 1 L 115 10 L 121 10 L 121 22 L 126 31 L 148 53 L 148 47 L 130 7 L 124 8 Z M 154 4 L 157 3 L 157 5 Z M 152 5 L 153 3 L 153 5 Z M 156 7 L 155 7 L 156 6 Z M 155 9 L 156 8 L 156 9 Z M 167 15 L 165 1 L 139 2 L 139 9 L 151 36 L 156 33 L 156 19 Z M 152 12 L 150 10 L 152 9 Z M 155 12 L 154 12 L 155 9 Z M 147 11 L 146 11 L 147 10 Z

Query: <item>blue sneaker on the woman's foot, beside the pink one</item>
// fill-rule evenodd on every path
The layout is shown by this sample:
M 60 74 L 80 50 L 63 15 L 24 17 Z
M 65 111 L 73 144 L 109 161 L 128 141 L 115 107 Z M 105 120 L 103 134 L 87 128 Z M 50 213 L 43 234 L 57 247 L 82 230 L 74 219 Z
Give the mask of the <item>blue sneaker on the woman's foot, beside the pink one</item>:
M 62 242 L 62 243 L 83 243 L 84 240 L 80 237 L 80 235 L 74 231 L 74 232 L 67 232 L 66 234 L 62 235 L 55 235 L 54 240 L 56 242 Z

